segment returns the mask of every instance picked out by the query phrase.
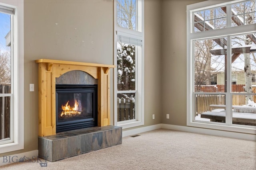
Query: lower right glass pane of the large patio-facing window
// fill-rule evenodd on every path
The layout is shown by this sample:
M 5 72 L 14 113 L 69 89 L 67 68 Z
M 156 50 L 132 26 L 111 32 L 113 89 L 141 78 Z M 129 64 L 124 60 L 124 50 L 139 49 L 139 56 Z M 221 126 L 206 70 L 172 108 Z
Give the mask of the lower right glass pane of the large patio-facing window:
M 233 124 L 256 125 L 256 45 L 249 37 L 255 34 L 232 36 L 232 74 L 237 75 L 237 85 L 232 85 Z M 248 119 L 240 119 L 241 116 Z

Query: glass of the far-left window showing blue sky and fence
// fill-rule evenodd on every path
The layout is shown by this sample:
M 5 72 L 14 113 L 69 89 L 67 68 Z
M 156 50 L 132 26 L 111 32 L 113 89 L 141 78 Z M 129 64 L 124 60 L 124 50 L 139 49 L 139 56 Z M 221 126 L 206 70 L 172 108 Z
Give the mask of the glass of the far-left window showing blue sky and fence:
M 0 12 L 0 142 L 10 140 L 11 16 Z

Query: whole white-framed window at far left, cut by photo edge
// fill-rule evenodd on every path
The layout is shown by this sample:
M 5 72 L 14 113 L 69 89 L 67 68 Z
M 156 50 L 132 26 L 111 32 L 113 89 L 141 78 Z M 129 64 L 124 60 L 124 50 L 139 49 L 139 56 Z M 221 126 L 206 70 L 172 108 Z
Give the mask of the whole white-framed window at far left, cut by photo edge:
M 0 0 L 0 153 L 23 149 L 23 1 Z M 19 12 L 18 12 L 19 9 Z M 19 23 L 18 23 L 19 20 Z M 19 30 L 18 30 L 19 25 Z M 22 80 L 20 80 L 22 78 Z

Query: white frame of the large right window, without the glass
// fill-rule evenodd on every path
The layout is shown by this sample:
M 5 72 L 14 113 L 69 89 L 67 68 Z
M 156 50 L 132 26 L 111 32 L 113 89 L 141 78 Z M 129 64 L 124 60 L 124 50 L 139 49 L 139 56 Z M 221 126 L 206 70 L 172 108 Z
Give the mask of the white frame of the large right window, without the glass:
M 193 109 L 195 105 L 194 95 L 193 95 L 193 88 L 194 88 L 194 47 L 193 41 L 198 39 L 211 39 L 216 37 L 224 37 L 226 36 L 228 39 L 228 47 L 231 43 L 231 36 L 237 34 L 245 34 L 245 33 L 255 33 L 256 24 L 250 25 L 241 25 L 236 27 L 231 27 L 229 23 L 231 23 L 231 17 L 229 18 L 228 9 L 227 8 L 227 27 L 222 29 L 215 29 L 211 31 L 201 31 L 194 33 L 194 18 L 193 12 L 206 10 L 209 8 L 217 8 L 221 6 L 226 6 L 228 4 L 236 4 L 239 2 L 244 2 L 246 0 L 208 0 L 204 2 L 199 2 L 196 4 L 191 4 L 187 6 L 187 126 L 192 127 L 200 127 L 200 128 L 208 128 L 208 129 L 217 129 L 223 131 L 233 131 L 233 132 L 240 132 L 240 133 L 251 133 L 256 134 L 255 128 L 253 127 L 245 127 L 232 124 L 232 92 L 231 92 L 231 63 L 227 65 L 227 71 L 229 72 L 227 75 L 227 92 L 223 93 L 226 95 L 226 123 L 220 124 L 216 122 L 203 122 L 203 121 L 195 121 L 195 117 L 193 114 Z M 231 15 L 231 12 L 230 12 Z M 227 61 L 231 61 L 231 49 L 227 48 Z M 222 94 L 222 93 L 221 93 Z M 255 94 L 254 94 L 255 95 Z

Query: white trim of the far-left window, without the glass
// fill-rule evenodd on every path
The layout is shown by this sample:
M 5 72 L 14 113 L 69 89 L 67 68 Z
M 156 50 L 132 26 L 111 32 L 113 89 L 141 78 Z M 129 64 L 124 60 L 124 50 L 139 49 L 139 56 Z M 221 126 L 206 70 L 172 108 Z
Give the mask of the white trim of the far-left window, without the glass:
M 0 145 L 0 153 L 24 149 L 24 0 L 0 0 L 0 5 L 14 8 L 13 25 L 13 117 L 11 130 L 13 141 Z M 18 16 L 18 18 L 17 18 Z M 17 42 L 18 44 L 15 44 Z

